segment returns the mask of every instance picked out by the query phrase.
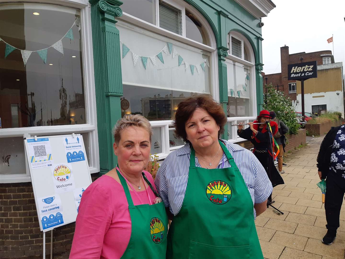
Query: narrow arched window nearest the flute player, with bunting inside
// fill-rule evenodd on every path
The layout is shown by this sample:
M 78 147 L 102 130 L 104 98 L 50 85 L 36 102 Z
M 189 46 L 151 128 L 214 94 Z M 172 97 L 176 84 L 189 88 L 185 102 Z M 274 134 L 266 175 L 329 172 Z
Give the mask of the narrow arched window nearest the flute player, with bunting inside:
M 232 124 L 248 123 L 256 117 L 255 56 L 249 41 L 240 33 L 230 31 L 227 38 L 228 57 L 228 139 L 243 141 Z

